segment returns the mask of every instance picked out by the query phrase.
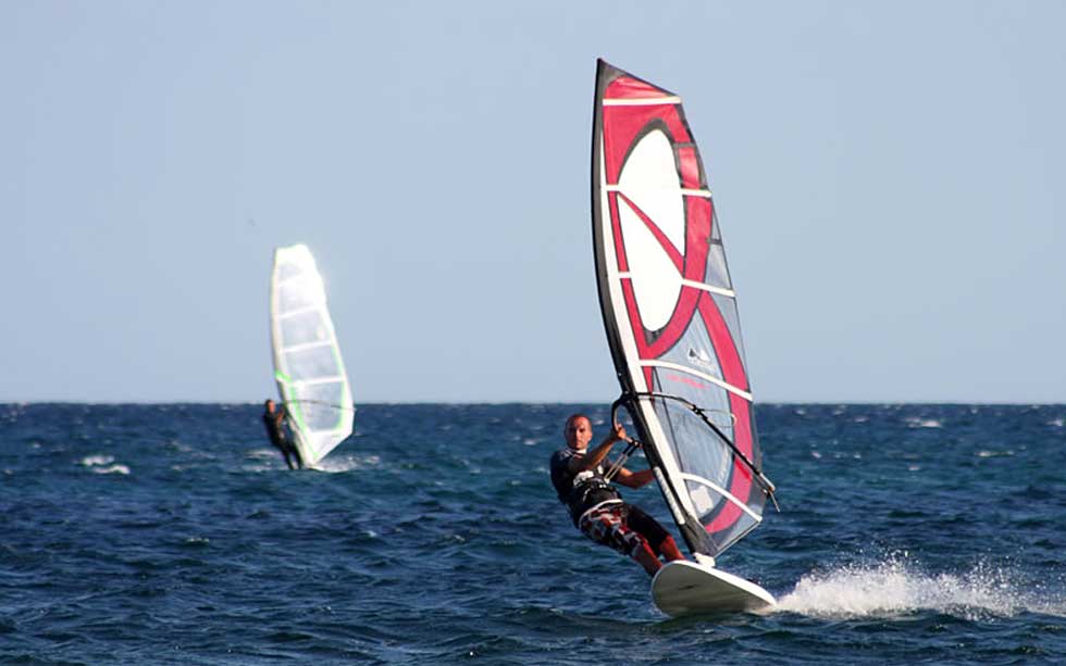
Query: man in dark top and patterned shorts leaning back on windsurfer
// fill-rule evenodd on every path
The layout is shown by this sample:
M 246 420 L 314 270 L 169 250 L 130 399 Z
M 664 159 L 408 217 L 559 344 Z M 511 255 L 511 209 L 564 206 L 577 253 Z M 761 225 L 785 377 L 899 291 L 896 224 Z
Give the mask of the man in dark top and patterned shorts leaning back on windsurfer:
M 662 566 L 659 556 L 668 562 L 684 560 L 670 532 L 639 506 L 623 502 L 605 476 L 607 454 L 625 439 L 625 428 L 616 424 L 592 451 L 592 422 L 584 414 L 570 416 L 562 432 L 567 447 L 551 456 L 551 485 L 570 510 L 574 526 L 596 543 L 635 560 L 648 576 Z M 612 480 L 627 488 L 641 488 L 653 478 L 650 469 L 630 472 L 619 467 Z

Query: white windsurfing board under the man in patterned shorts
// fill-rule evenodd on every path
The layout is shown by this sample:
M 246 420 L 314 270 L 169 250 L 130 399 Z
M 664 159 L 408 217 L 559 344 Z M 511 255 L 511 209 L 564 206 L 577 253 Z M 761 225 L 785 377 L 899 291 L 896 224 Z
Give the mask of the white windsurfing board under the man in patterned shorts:
M 652 599 L 671 617 L 773 607 L 773 595 L 749 580 L 695 562 L 669 562 L 652 579 Z

